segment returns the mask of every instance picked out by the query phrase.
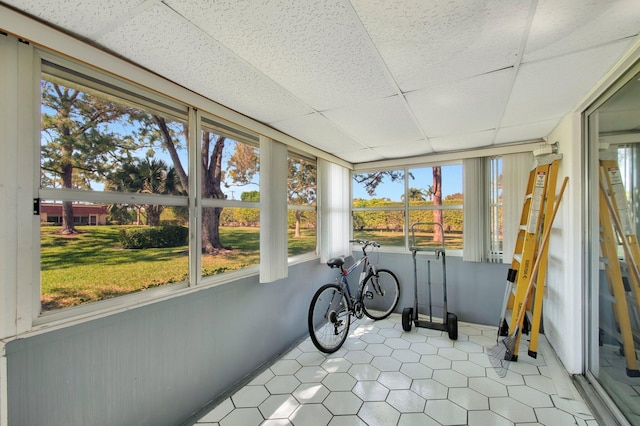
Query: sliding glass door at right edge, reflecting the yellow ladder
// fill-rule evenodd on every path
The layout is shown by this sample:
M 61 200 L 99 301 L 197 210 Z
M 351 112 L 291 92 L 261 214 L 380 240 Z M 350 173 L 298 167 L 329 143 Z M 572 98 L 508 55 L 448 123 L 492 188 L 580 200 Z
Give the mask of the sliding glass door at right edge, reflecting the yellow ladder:
M 636 64 L 594 103 L 585 122 L 592 185 L 587 377 L 633 425 L 640 424 L 639 77 Z

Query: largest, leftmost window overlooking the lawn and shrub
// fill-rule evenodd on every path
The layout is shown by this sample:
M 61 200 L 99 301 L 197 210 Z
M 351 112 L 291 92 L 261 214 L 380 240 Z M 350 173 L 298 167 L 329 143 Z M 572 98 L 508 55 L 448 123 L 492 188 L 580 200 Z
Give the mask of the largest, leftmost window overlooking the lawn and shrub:
M 42 311 L 188 280 L 186 112 L 43 62 Z

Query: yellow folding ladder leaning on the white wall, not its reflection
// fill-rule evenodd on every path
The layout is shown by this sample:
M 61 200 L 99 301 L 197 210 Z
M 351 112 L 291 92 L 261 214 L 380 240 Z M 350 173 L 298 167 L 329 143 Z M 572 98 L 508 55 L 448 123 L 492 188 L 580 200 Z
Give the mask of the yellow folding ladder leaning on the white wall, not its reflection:
M 534 156 L 522 206 L 513 260 L 507 273 L 507 286 L 498 327 L 499 336 L 513 333 L 516 326 L 519 326 L 523 333 L 529 334 L 529 355 L 533 358 L 537 357 L 542 319 L 542 298 L 547 273 L 547 249 L 540 247 L 540 239 L 544 229 L 544 218 L 551 217 L 551 211 L 553 211 L 561 159 L 560 154 Z M 532 269 L 538 256 L 541 258 L 535 277 L 536 284 L 530 288 L 528 283 L 534 272 Z M 527 296 L 529 291 L 534 294 Z M 523 323 L 517 324 L 521 309 L 526 310 L 526 315 L 521 317 Z M 509 314 L 510 321 L 507 320 Z M 519 342 L 516 342 L 516 349 L 512 354 L 511 361 L 518 360 L 518 345 Z

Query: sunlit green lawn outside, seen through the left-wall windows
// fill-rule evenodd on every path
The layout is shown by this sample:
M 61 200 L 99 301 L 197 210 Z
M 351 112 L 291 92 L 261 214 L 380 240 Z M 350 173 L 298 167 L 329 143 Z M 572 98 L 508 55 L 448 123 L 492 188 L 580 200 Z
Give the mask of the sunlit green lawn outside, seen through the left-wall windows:
M 118 241 L 122 226 L 80 226 L 77 235 L 58 234 L 59 227 L 41 229 L 42 310 L 48 311 L 143 291 L 188 279 L 187 246 L 124 250 Z M 221 228 L 230 246 L 224 254 L 203 255 L 202 274 L 212 275 L 256 265 L 259 231 Z M 315 249 L 315 233 L 290 239 L 290 255 Z

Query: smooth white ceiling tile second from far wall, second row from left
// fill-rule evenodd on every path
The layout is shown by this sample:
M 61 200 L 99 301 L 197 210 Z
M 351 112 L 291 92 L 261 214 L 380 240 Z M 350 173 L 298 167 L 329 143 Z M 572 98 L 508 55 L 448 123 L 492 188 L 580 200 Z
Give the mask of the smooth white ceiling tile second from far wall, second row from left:
M 398 145 L 423 138 L 398 96 L 324 111 L 323 115 L 369 146 Z

